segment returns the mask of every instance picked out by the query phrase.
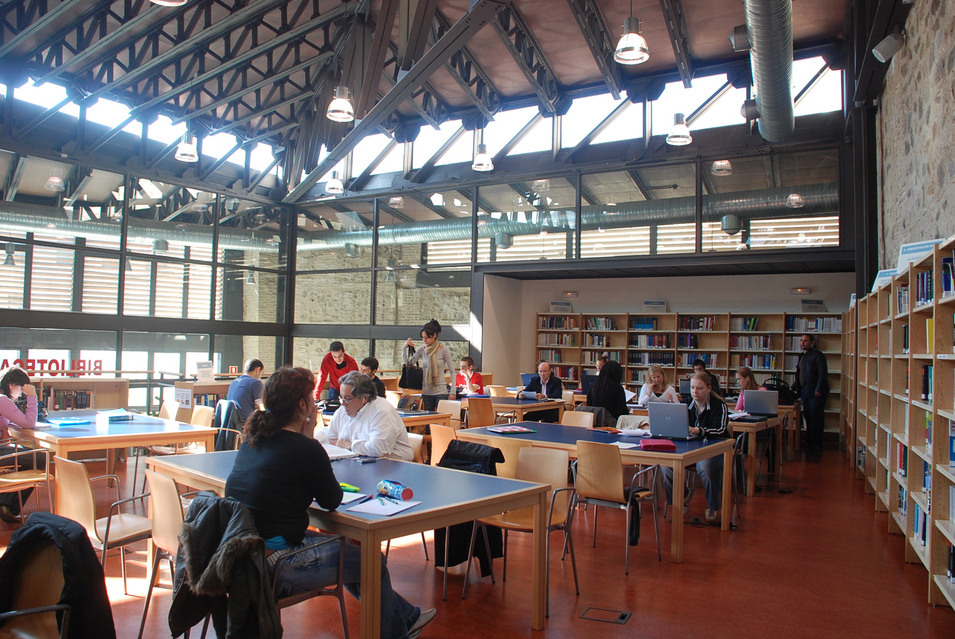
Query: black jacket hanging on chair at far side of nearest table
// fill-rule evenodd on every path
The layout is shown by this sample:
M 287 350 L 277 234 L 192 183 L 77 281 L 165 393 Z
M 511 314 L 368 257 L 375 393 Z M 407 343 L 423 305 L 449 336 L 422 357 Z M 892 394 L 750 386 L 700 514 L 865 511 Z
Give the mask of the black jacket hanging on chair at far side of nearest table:
M 504 454 L 499 448 L 453 439 L 437 465 L 441 468 L 455 468 L 479 475 L 497 475 L 498 464 L 503 461 Z M 474 522 L 456 523 L 451 526 L 448 543 L 449 565 L 463 564 L 468 561 L 468 548 L 471 545 L 473 528 Z M 480 563 L 481 577 L 491 574 L 491 558 L 504 556 L 504 540 L 500 528 L 487 526 L 487 537 L 491 545 L 490 549 L 485 546 L 483 535 L 477 535 L 475 540 L 474 556 Z M 435 565 L 444 565 L 444 543 L 444 528 L 435 530 Z

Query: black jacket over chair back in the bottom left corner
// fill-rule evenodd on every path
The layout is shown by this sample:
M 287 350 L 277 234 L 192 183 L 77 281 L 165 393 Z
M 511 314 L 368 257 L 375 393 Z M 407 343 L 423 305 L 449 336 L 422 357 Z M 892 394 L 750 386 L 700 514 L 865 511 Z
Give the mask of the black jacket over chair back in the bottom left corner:
M 45 541 L 59 548 L 63 558 L 63 593 L 57 603 L 71 607 L 69 636 L 116 639 L 102 564 L 86 528 L 53 513 L 33 513 L 0 557 L 0 611 L 11 610 L 22 564 L 32 556 L 32 547 Z

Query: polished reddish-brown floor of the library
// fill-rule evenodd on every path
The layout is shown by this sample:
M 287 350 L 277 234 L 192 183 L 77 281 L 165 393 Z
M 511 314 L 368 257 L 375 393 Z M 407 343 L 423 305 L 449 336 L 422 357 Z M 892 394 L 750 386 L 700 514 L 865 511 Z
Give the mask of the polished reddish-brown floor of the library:
M 784 466 L 783 483 L 793 492 L 764 490 L 741 501 L 737 530 L 687 524 L 685 562 L 668 561 L 669 522 L 662 522 L 664 561 L 658 562 L 652 522 L 644 520 L 640 545 L 631 548 L 624 574 L 622 512 L 602 509 L 597 547 L 590 543 L 592 510 L 575 522 L 581 595 L 574 594 L 570 562 L 552 558 L 551 610 L 543 632 L 530 629 L 530 538 L 512 535 L 508 579 L 498 583 L 474 573 L 461 600 L 461 576 L 452 575 L 447 602 L 441 574 L 424 561 L 420 537 L 393 545 L 393 585 L 412 603 L 437 607 L 422 637 L 930 637 L 955 636 L 955 612 L 925 603 L 927 573 L 902 561 L 902 537 L 886 534 L 886 517 L 836 450 L 801 454 Z M 102 472 L 91 462 L 91 475 Z M 132 473 L 132 464 L 129 473 Z M 124 469 L 120 465 L 119 474 Z M 141 474 L 140 470 L 140 474 Z M 124 480 L 124 496 L 131 477 Z M 141 475 L 140 479 L 141 481 Z M 690 520 L 702 517 L 697 491 Z M 115 493 L 114 493 L 115 495 Z M 97 493 L 105 510 L 110 497 Z M 46 500 L 43 500 L 46 508 Z M 33 507 L 31 501 L 28 511 Z M 105 513 L 104 513 L 105 514 Z M 6 544 L 14 525 L 0 524 Z M 560 542 L 559 534 L 553 536 Z M 430 542 L 430 538 L 429 538 Z M 429 546 L 431 544 L 429 543 Z M 118 557 L 107 564 L 117 636 L 136 637 L 145 593 L 145 543 L 128 555 L 130 595 L 122 592 Z M 162 579 L 169 583 L 166 571 Z M 165 614 L 171 591 L 159 589 L 144 636 L 168 637 Z M 586 607 L 632 613 L 624 625 L 581 619 Z M 349 601 L 352 636 L 358 606 Z M 286 639 L 342 636 L 333 600 L 312 600 L 282 613 Z

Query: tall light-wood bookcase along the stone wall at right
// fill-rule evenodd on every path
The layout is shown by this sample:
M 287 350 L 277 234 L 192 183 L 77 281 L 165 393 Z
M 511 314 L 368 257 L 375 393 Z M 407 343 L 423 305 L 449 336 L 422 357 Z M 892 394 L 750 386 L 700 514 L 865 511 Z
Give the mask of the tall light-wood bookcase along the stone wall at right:
M 955 237 L 936 245 L 846 314 L 842 403 L 857 476 L 928 572 L 928 602 L 955 607 Z M 849 381 L 849 380 L 847 380 Z

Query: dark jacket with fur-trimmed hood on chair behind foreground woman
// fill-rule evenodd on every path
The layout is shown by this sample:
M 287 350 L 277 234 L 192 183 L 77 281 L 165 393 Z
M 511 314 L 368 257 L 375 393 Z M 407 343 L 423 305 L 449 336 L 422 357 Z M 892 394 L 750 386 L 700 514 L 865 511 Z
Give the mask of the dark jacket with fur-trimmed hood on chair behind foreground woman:
M 210 613 L 219 639 L 282 637 L 265 542 L 242 503 L 200 493 L 189 506 L 179 540 L 169 608 L 174 637 Z

